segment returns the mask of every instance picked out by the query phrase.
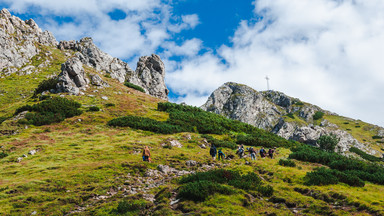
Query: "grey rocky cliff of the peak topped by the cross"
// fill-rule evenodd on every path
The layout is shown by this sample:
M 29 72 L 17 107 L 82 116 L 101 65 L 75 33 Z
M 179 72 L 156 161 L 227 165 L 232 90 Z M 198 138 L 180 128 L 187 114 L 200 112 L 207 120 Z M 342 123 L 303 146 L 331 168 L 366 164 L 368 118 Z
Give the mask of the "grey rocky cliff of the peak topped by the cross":
M 201 108 L 271 131 L 285 139 L 316 145 L 320 136 L 336 134 L 340 138 L 337 151 L 346 153 L 354 146 L 378 154 L 338 125 L 324 118 L 314 119 L 318 112 L 329 116 L 337 114 L 281 92 L 258 92 L 246 85 L 228 82 L 216 89 Z

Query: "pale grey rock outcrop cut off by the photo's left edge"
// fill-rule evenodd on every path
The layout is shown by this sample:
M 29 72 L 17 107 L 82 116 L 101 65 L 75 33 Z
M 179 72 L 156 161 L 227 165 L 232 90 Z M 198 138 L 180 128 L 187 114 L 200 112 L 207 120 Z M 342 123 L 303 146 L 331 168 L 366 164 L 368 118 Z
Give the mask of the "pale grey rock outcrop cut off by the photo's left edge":
M 33 19 L 22 21 L 7 9 L 0 11 L 0 76 L 23 70 L 23 66 L 40 53 L 38 44 L 57 46 L 57 41 L 50 32 L 43 32 Z

